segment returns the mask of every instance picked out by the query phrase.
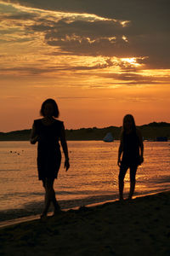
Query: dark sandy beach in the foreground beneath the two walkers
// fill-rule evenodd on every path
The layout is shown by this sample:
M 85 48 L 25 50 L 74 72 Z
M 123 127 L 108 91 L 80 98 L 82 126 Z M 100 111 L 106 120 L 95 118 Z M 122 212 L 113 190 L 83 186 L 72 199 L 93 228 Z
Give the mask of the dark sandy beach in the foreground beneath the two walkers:
M 170 255 L 170 191 L 0 230 L 1 255 Z

